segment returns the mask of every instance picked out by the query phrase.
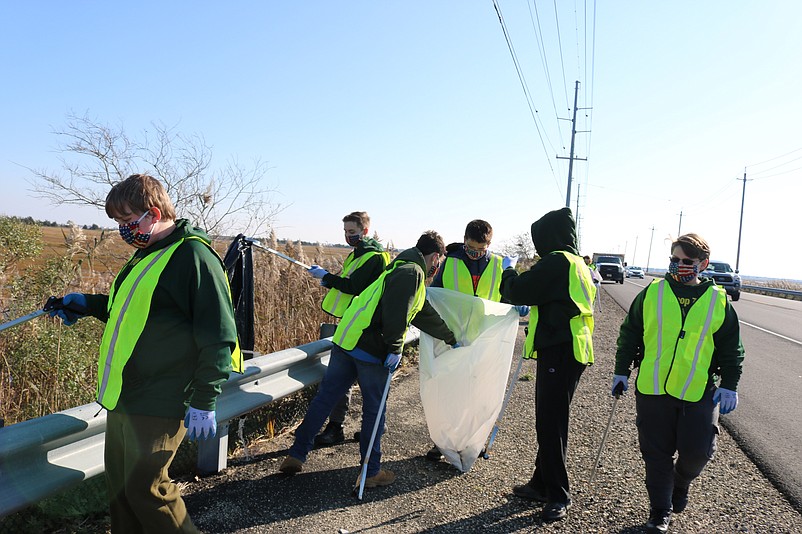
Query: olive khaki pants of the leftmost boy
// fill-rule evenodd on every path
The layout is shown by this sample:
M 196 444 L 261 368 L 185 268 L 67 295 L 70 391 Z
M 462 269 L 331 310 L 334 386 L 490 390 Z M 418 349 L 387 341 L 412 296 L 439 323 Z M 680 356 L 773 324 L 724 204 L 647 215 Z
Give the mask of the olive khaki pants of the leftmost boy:
M 106 419 L 106 482 L 114 534 L 199 532 L 167 474 L 183 421 L 116 411 Z

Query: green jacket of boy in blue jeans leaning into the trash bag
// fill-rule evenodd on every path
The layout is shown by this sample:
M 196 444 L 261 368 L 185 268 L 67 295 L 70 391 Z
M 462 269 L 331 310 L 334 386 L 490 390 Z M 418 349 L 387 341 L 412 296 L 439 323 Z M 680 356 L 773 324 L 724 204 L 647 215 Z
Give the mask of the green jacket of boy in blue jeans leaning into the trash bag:
M 415 299 L 418 286 L 426 280 L 426 262 L 417 248 L 403 251 L 390 263 L 410 262 L 400 265 L 388 274 L 384 285 L 384 294 L 370 325 L 357 341 L 356 348 L 384 361 L 388 354 L 401 354 L 404 348 L 404 332 L 406 332 L 407 316 Z M 388 266 L 388 269 L 390 268 Z M 457 342 L 453 332 L 446 326 L 435 309 L 424 302 L 423 309 L 418 312 L 412 324 L 432 337 L 442 339 L 449 345 Z

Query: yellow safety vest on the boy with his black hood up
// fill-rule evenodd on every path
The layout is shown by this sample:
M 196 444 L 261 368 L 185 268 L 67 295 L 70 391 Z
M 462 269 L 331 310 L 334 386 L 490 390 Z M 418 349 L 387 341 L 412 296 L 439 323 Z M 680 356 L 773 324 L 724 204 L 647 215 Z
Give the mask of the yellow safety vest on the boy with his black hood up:
M 583 365 L 593 363 L 593 301 L 596 298 L 596 288 L 585 260 L 580 256 L 565 251 L 556 251 L 552 254 L 562 254 L 571 264 L 568 271 L 568 293 L 579 314 L 571 317 L 571 338 L 574 346 L 574 358 Z M 535 350 L 535 331 L 539 310 L 532 306 L 529 310 L 529 333 L 524 343 L 525 359 L 537 359 Z

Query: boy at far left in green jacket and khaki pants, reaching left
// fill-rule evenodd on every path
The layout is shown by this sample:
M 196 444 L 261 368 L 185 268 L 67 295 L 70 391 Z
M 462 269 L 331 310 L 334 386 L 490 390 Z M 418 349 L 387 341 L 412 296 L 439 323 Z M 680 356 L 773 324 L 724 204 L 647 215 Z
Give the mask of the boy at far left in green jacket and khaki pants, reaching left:
M 106 323 L 98 403 L 108 410 L 111 530 L 198 532 L 167 471 L 185 435 L 215 435 L 217 396 L 232 364 L 241 369 L 228 279 L 209 237 L 176 220 L 155 178 L 117 183 L 106 214 L 136 251 L 109 295 L 70 293 L 53 315 Z

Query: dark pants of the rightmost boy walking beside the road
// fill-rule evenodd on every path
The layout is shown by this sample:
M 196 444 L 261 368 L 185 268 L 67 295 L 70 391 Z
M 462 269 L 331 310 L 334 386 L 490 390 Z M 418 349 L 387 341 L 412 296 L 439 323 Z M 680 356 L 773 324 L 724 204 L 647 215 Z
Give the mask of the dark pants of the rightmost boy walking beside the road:
M 674 486 L 687 488 L 713 458 L 718 437 L 715 389 L 709 387 L 698 402 L 636 393 L 635 424 L 652 508 L 670 510 Z

